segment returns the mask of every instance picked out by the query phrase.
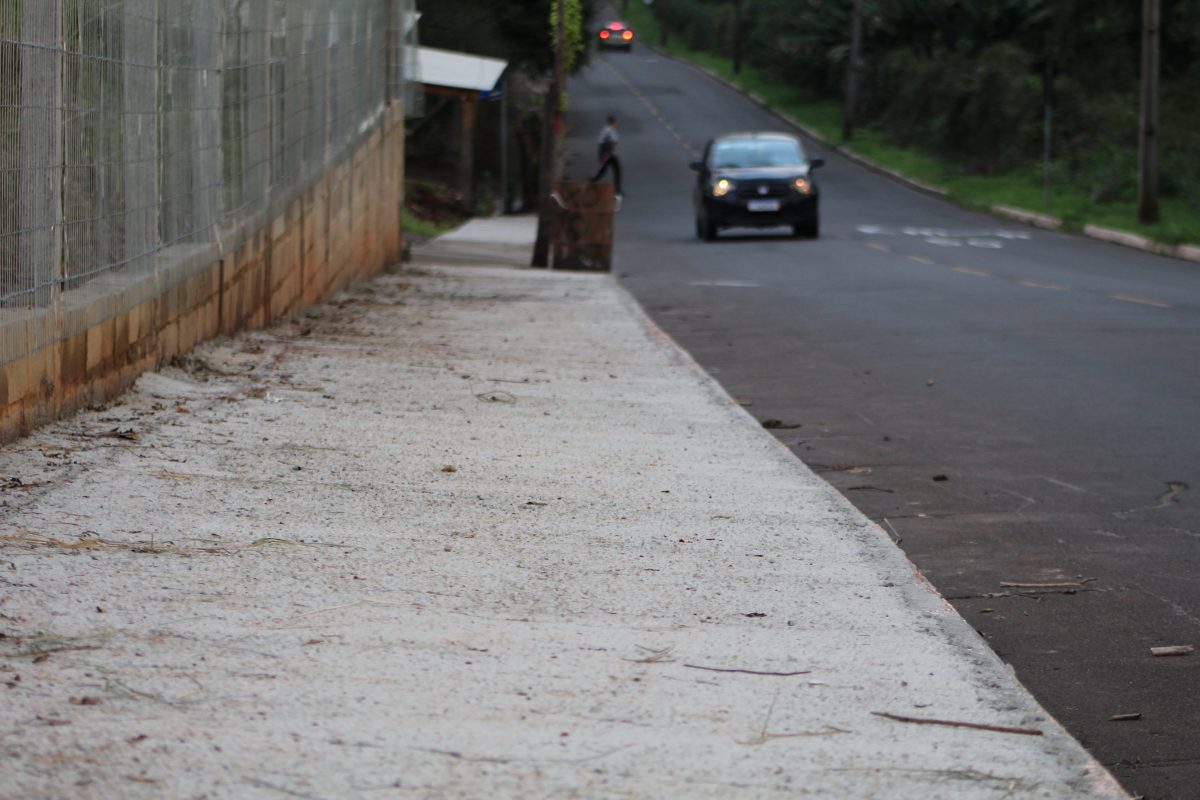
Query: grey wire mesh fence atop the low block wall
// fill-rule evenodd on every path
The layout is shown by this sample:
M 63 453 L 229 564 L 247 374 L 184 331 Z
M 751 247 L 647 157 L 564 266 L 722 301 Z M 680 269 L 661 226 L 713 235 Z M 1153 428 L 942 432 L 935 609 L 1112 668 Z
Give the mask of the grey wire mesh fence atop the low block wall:
M 414 0 L 0 0 L 0 317 L 218 258 L 389 102 L 418 108 L 415 20 Z

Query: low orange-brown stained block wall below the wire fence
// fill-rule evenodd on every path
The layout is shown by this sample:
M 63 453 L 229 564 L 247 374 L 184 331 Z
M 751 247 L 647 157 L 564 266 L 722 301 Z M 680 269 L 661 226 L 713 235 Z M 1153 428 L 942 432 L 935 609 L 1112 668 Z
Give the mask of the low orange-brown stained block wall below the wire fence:
M 6 341 L 34 341 L 37 325 L 56 329 L 52 344 L 0 367 L 0 441 L 113 399 L 205 339 L 271 325 L 398 261 L 403 164 L 404 119 L 394 107 L 354 154 L 216 263 L 181 279 L 167 264 L 142 279 L 142 291 L 130 282 L 89 285 L 64 297 L 70 313 L 17 312 L 0 321 Z M 124 301 L 148 294 L 148 279 L 166 288 Z

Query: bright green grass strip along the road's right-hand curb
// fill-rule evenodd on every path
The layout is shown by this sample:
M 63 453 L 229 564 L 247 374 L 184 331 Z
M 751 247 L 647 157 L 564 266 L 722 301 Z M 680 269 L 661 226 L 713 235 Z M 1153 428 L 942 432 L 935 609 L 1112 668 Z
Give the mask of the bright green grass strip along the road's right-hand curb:
M 643 42 L 661 48 L 661 29 L 646 5 L 631 0 L 625 14 Z M 881 131 L 871 127 L 857 130 L 853 142 L 847 143 L 841 138 L 840 101 L 816 97 L 754 68 L 743 68 L 740 74 L 734 76 L 730 59 L 690 50 L 678 40 L 668 41 L 661 49 L 731 80 L 775 110 L 800 121 L 833 145 L 847 146 L 877 164 L 923 184 L 946 188 L 953 200 L 967 207 L 986 210 L 992 205 L 1008 205 L 1058 217 L 1066 228 L 1073 230 L 1096 224 L 1130 230 L 1168 245 L 1200 242 L 1200 213 L 1183 199 L 1160 198 L 1159 222 L 1144 225 L 1138 222 L 1135 203 L 1096 204 L 1082 187 L 1062 182 L 1052 182 L 1048 192 L 1043 185 L 1040 164 L 1022 170 L 982 175 L 930 152 L 895 145 Z M 1129 180 L 1135 180 L 1135 176 L 1130 175 Z

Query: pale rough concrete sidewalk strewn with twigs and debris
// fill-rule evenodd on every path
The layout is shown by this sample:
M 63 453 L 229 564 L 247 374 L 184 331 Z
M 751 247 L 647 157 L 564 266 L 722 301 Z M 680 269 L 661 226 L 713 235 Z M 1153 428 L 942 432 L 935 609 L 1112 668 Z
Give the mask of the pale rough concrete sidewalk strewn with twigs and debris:
M 470 243 L 0 453 L 0 796 L 1126 796 L 611 277 Z

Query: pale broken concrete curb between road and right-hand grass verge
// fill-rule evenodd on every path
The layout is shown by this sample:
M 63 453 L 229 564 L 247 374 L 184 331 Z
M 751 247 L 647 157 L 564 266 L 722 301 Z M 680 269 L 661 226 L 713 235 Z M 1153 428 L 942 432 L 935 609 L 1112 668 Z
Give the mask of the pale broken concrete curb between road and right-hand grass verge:
M 827 138 L 821 136 L 817 131 L 800 122 L 791 114 L 775 109 L 760 95 L 756 95 L 751 91 L 746 91 L 745 89 L 733 83 L 725 76 L 721 76 L 714 72 L 713 70 L 709 70 L 708 67 L 701 66 L 698 64 L 692 64 L 686 59 L 680 59 L 678 56 L 671 55 L 670 53 L 664 53 L 653 44 L 643 43 L 642 46 L 649 48 L 650 50 L 661 55 L 665 59 L 671 59 L 672 61 L 677 61 L 684 66 L 691 67 L 692 70 L 698 70 L 700 72 L 703 72 L 709 78 L 713 78 L 718 83 L 721 83 L 725 86 L 749 98 L 752 103 L 755 103 L 763 110 L 770 113 L 772 115 L 778 118 L 781 122 L 790 125 L 791 127 L 803 133 L 805 137 L 820 143 L 822 146 L 833 150 L 834 152 L 841 156 L 845 156 L 846 158 L 858 164 L 859 167 L 870 169 L 872 173 L 877 173 L 880 175 L 886 175 L 887 178 L 890 178 L 892 180 L 899 184 L 904 184 L 910 188 L 917 190 L 918 192 L 923 192 L 925 194 L 932 194 L 944 199 L 952 199 L 949 190 L 942 188 L 941 186 L 934 186 L 931 184 L 918 181 L 917 179 L 910 178 L 908 175 L 896 172 L 890 167 L 884 167 L 883 164 L 878 164 L 871 161 L 870 158 L 865 158 L 854 152 L 853 150 L 851 150 L 850 148 L 833 144 Z M 1044 230 L 1058 230 L 1062 228 L 1063 224 L 1062 219 L 1060 219 L 1058 217 L 1051 217 L 1049 215 L 1037 213 L 1036 211 L 1026 211 L 1025 209 L 1018 209 L 1007 205 L 994 205 L 989 209 L 989 211 L 994 216 L 1003 217 L 1006 219 L 1012 219 L 1014 222 L 1024 222 L 1036 228 L 1042 228 Z M 1147 239 L 1146 236 L 1141 236 L 1139 234 L 1134 234 L 1128 230 L 1117 230 L 1115 228 L 1102 228 L 1100 225 L 1092 225 L 1092 224 L 1085 225 L 1082 234 L 1085 236 L 1088 236 L 1090 239 L 1097 239 L 1099 241 L 1105 241 L 1112 245 L 1121 245 L 1122 247 L 1129 247 L 1146 253 L 1154 253 L 1157 255 L 1166 255 L 1169 258 L 1177 258 L 1184 261 L 1193 261 L 1200 264 L 1200 245 L 1177 245 L 1172 247 L 1171 245 L 1164 245 L 1163 242 Z

